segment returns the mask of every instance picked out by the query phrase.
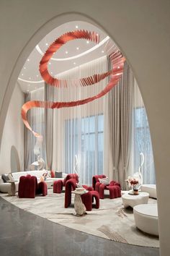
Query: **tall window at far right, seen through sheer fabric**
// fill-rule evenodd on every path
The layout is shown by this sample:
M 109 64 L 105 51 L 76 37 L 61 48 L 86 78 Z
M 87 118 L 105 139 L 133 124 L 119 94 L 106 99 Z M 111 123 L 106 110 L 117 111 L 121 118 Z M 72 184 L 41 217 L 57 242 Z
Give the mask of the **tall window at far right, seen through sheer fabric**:
M 138 107 L 134 109 L 134 152 L 134 166 L 136 171 L 138 171 L 138 168 L 141 164 L 140 153 L 143 153 L 144 155 L 144 164 L 142 167 L 143 183 L 155 184 L 156 180 L 151 135 L 146 115 L 146 109 L 144 107 Z

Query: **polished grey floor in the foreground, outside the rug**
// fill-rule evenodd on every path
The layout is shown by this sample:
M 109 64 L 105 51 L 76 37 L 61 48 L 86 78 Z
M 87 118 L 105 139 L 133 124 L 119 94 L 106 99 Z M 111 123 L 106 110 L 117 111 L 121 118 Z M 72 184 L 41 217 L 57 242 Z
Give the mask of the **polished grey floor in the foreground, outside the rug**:
M 1 256 L 158 256 L 138 247 L 91 236 L 21 210 L 0 197 Z

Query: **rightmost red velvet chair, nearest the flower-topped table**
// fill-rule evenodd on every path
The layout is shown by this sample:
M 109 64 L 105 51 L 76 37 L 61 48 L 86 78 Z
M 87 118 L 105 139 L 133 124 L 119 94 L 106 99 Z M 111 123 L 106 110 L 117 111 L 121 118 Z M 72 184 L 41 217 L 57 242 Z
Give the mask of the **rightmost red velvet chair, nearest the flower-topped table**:
M 117 197 L 121 197 L 121 187 L 120 183 L 111 181 L 108 185 L 102 184 L 99 182 L 99 179 L 106 178 L 104 174 L 102 175 L 95 175 L 92 178 L 92 186 L 94 190 L 99 192 L 99 198 L 104 199 L 104 189 L 109 190 L 109 198 L 114 199 Z

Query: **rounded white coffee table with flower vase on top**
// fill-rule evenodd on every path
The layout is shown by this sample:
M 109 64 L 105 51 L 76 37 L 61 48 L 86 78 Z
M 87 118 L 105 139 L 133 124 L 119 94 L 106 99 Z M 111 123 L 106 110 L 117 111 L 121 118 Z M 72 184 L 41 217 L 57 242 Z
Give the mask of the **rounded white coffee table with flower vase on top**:
M 139 192 L 138 195 L 129 195 L 125 193 L 122 195 L 122 203 L 125 208 L 130 206 L 133 208 L 135 205 L 147 204 L 149 194 L 147 192 Z

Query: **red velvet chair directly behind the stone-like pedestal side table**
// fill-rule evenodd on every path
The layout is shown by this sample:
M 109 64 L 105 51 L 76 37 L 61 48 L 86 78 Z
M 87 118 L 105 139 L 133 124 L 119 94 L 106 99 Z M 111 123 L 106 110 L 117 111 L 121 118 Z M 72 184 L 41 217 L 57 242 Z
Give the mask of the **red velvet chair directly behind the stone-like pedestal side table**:
M 65 208 L 71 205 L 71 191 L 76 189 L 76 179 L 68 179 L 66 182 L 66 189 L 65 189 Z M 94 198 L 96 201 L 96 208 L 99 208 L 99 193 L 97 191 L 92 190 L 92 187 L 88 187 L 86 185 L 83 186 L 85 189 L 89 190 L 84 195 L 81 195 L 82 202 L 86 206 L 86 210 L 91 210 L 92 202 L 94 202 Z

